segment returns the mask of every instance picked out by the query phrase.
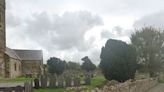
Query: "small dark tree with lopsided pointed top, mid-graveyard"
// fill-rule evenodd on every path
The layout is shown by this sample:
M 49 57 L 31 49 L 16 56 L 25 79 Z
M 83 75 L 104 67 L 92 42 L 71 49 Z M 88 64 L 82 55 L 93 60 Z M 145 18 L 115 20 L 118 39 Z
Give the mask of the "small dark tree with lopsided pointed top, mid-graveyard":
M 87 72 L 94 71 L 96 69 L 96 66 L 92 63 L 92 61 L 88 58 L 88 56 L 85 56 L 82 58 L 83 64 L 81 65 L 81 68 Z

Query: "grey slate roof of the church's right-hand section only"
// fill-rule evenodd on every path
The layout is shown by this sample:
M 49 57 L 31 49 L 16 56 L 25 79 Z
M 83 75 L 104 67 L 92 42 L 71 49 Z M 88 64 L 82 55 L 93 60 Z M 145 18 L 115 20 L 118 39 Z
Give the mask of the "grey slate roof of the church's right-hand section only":
M 43 60 L 42 50 L 16 50 L 14 51 L 22 60 Z

